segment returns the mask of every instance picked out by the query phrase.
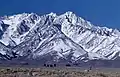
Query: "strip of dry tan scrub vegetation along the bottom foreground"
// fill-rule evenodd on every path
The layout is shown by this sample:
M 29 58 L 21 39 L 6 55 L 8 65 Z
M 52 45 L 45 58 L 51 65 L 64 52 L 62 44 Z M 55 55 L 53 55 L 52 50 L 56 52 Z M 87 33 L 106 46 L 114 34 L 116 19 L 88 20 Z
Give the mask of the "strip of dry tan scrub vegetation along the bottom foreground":
M 71 68 L 0 68 L 0 77 L 120 77 L 118 72 L 84 71 Z

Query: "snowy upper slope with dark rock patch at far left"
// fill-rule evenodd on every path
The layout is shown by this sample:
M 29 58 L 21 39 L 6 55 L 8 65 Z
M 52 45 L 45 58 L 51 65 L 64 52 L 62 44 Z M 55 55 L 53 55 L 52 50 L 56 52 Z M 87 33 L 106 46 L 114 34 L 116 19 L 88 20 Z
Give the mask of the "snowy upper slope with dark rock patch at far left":
M 31 27 L 34 27 L 39 22 L 39 16 L 34 13 L 18 14 L 4 17 L 1 26 L 5 27 L 2 31 L 1 42 L 6 46 L 16 46 L 23 41 L 23 37 L 27 34 Z M 8 25 L 8 27 L 6 27 Z M 2 29 L 4 28 L 2 27 Z M 12 44 L 10 41 L 13 41 Z

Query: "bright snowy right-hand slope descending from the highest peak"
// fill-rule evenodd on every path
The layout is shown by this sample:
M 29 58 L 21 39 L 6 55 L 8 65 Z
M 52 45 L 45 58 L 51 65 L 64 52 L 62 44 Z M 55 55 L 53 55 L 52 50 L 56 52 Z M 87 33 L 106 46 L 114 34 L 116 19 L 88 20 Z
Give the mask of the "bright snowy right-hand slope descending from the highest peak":
M 94 26 L 72 12 L 58 16 L 54 23 L 61 25 L 61 31 L 88 53 L 95 53 L 107 59 L 119 57 L 120 32 L 118 30 Z

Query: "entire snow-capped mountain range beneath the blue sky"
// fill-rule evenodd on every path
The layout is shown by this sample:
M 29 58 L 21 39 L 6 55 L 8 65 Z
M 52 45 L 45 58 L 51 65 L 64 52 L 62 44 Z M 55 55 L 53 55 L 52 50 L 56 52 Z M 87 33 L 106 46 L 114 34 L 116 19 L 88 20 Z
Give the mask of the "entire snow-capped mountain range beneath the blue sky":
M 73 12 L 0 17 L 0 59 L 115 60 L 120 32 L 91 24 Z

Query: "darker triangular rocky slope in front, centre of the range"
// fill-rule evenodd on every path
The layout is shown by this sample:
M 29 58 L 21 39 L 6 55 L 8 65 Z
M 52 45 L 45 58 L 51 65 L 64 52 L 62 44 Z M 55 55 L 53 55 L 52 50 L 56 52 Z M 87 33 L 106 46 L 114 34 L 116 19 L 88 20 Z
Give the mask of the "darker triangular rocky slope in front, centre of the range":
M 56 26 L 52 24 L 51 15 L 42 16 L 40 21 L 24 37 L 24 41 L 13 48 L 18 57 L 24 59 L 41 59 L 45 55 L 53 56 L 53 60 L 59 61 L 60 58 L 71 60 L 86 54 L 86 51 L 72 40 L 66 37 Z M 72 54 L 71 54 L 72 53 Z M 56 56 L 54 56 L 56 55 Z M 47 57 L 46 57 L 47 58 Z M 56 59 L 55 59 L 56 58 Z

